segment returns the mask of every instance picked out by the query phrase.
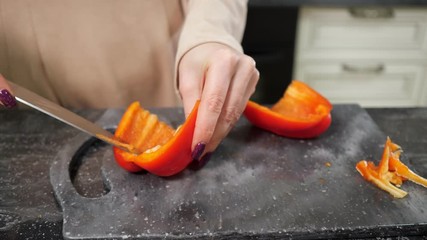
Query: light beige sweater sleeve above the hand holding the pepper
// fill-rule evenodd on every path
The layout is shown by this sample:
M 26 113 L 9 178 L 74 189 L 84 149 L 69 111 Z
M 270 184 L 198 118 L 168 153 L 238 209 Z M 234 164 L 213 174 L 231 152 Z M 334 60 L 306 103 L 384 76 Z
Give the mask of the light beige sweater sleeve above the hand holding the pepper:
M 247 0 L 183 1 L 185 22 L 175 59 L 175 86 L 178 86 L 178 64 L 186 52 L 207 42 L 228 45 L 243 52 L 240 44 L 247 14 Z

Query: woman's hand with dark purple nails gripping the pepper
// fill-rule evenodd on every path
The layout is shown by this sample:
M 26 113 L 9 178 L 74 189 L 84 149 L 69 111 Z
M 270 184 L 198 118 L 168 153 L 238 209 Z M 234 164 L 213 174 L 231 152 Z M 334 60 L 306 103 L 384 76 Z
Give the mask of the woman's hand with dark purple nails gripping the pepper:
M 186 116 L 200 99 L 193 159 L 204 164 L 242 115 L 259 79 L 255 61 L 226 45 L 205 43 L 188 51 L 178 67 Z

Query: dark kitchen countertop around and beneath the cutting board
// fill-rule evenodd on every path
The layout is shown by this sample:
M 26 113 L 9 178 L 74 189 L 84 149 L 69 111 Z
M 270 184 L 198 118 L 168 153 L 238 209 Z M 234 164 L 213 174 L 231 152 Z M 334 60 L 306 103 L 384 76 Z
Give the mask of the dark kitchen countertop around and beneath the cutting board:
M 93 121 L 103 112 L 77 111 Z M 427 176 L 427 108 L 367 112 L 386 135 L 402 146 L 417 173 Z M 58 143 L 66 142 L 78 131 L 33 110 L 0 110 L 0 123 L 0 239 L 62 238 L 62 212 L 49 182 L 49 169 L 63 147 Z M 92 194 L 89 197 L 103 194 L 102 177 L 93 172 L 99 164 L 99 159 L 93 159 L 75 180 L 88 181 L 89 185 L 82 185 L 79 191 Z

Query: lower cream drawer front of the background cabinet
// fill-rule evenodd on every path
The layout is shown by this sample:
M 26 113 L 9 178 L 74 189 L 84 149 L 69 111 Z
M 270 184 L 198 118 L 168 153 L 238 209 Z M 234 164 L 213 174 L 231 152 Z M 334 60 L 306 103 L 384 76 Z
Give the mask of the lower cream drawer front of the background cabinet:
M 419 106 L 425 87 L 421 65 L 382 63 L 309 63 L 296 78 L 307 82 L 333 103 L 366 107 Z

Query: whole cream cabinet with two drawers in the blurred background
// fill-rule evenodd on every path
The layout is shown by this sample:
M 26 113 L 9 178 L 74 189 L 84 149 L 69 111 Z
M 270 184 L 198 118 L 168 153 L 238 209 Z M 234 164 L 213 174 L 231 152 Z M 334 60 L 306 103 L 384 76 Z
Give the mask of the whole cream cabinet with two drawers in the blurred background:
M 427 9 L 302 8 L 294 79 L 333 103 L 427 106 Z

